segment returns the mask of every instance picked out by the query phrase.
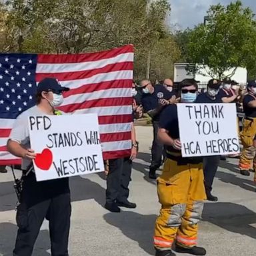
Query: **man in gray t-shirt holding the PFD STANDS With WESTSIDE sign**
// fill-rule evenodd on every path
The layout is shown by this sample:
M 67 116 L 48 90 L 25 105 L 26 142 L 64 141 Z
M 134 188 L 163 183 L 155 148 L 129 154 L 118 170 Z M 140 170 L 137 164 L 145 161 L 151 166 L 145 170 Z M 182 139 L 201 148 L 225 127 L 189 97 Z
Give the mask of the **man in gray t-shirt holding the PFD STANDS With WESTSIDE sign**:
M 17 207 L 16 217 L 19 229 L 13 256 L 32 255 L 37 235 L 46 217 L 51 234 L 51 255 L 68 255 L 71 216 L 69 179 L 36 181 L 35 172 L 31 168 L 36 153 L 30 146 L 27 121 L 29 116 L 61 115 L 60 111 L 55 111 L 55 107 L 61 105 L 62 93 L 68 90 L 53 78 L 40 81 L 35 95 L 36 105 L 21 113 L 11 130 L 7 149 L 11 154 L 22 158 L 23 169 L 21 202 Z

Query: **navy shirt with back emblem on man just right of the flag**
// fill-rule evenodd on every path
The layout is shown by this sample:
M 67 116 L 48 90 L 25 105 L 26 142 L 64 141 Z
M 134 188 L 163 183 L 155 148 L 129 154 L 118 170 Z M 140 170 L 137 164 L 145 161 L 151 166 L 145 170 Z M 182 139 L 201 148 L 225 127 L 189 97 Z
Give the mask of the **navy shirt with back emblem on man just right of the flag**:
M 151 93 L 143 93 L 141 97 L 141 104 L 145 112 L 155 109 L 159 106 L 159 99 L 171 99 L 175 93 L 173 91 L 168 91 L 163 85 L 155 85 L 155 91 Z M 153 121 L 159 121 L 159 116 L 155 115 Z

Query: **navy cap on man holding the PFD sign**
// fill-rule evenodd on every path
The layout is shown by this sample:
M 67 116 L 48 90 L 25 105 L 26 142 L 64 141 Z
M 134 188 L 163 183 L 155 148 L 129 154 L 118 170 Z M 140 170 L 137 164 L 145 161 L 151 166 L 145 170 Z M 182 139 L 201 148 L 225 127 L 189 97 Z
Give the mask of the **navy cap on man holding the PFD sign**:
M 69 91 L 69 88 L 62 87 L 59 81 L 55 78 L 46 77 L 37 85 L 37 93 L 42 91 L 53 91 L 53 93 L 61 93 L 62 91 Z

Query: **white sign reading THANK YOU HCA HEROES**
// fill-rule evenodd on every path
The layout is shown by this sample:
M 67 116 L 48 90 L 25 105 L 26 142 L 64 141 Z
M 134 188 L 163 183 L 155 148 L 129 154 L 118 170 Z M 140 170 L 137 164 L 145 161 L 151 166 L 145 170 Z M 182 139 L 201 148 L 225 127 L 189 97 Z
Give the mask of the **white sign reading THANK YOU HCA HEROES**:
M 235 103 L 179 103 L 183 157 L 240 153 Z

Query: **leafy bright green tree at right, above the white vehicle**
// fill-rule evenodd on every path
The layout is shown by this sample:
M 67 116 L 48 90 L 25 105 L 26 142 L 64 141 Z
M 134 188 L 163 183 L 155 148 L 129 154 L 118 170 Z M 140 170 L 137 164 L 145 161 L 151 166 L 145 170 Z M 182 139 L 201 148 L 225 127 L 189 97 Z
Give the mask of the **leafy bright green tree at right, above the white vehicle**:
M 256 22 L 251 9 L 236 1 L 227 7 L 213 5 L 207 15 L 208 22 L 195 27 L 189 35 L 189 61 L 207 65 L 209 75 L 217 79 L 225 77 L 229 69 L 255 65 Z

